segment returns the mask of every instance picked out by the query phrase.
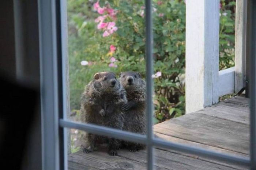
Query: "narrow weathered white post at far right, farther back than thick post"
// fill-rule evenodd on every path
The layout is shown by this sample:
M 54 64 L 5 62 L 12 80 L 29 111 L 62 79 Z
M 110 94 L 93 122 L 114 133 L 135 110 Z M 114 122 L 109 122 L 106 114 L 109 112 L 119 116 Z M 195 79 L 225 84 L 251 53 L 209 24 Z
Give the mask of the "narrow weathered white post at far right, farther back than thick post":
M 235 92 L 245 87 L 247 0 L 236 0 Z

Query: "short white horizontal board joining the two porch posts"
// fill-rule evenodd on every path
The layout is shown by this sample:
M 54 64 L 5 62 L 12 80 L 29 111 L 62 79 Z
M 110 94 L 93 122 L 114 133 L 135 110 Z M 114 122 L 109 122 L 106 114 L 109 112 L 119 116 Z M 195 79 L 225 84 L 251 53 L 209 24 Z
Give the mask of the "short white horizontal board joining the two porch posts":
M 235 67 L 219 71 L 218 96 L 234 93 Z

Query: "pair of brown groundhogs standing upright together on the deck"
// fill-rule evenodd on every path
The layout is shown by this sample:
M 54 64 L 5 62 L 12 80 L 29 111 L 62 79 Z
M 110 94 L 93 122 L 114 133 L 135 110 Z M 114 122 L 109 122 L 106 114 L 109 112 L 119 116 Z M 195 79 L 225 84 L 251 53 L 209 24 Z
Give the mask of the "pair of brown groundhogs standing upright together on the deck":
M 113 72 L 100 72 L 86 86 L 81 98 L 80 119 L 84 123 L 146 134 L 146 83 L 138 72 L 121 72 L 119 79 Z M 84 153 L 90 153 L 96 145 L 108 143 L 108 153 L 128 148 L 139 151 L 145 145 L 120 141 L 86 133 L 83 137 Z

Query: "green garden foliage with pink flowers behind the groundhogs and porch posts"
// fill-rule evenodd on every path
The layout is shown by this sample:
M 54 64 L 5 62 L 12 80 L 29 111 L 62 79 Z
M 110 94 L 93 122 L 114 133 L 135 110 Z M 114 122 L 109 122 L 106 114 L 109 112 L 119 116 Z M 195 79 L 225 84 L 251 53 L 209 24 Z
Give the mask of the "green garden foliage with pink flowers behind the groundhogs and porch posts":
M 68 0 L 71 108 L 99 71 L 138 71 L 145 77 L 142 0 Z M 233 66 L 233 4 L 222 1 L 220 68 Z M 155 122 L 185 111 L 185 3 L 153 1 Z M 233 31 L 233 32 L 232 32 Z M 82 63 L 80 63 L 83 61 Z

